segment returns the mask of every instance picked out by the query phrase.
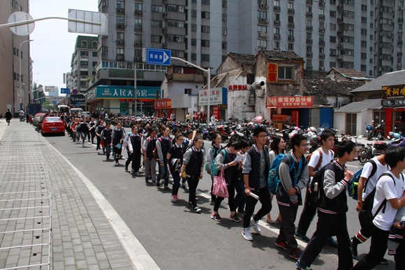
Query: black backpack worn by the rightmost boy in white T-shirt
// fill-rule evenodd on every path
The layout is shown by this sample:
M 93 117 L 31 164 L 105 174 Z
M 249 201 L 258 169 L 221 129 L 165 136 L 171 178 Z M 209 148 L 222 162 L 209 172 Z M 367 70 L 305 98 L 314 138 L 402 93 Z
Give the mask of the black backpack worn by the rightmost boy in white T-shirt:
M 391 177 L 391 179 L 392 179 L 392 181 L 394 181 L 394 185 L 395 185 L 395 180 L 390 173 L 384 172 L 383 174 L 381 174 L 381 177 L 383 177 L 383 176 Z M 378 178 L 378 180 L 381 179 L 381 177 Z M 404 180 L 404 176 L 402 174 L 401 174 L 401 177 L 402 177 L 402 180 Z M 388 202 L 387 199 L 383 200 L 383 202 L 378 207 L 376 213 L 374 213 L 374 215 L 373 215 L 372 210 L 373 210 L 373 206 L 374 206 L 375 197 L 376 197 L 376 187 L 374 187 L 374 189 L 371 191 L 371 193 L 369 195 L 367 195 L 367 197 L 364 199 L 363 207 L 359 211 L 359 220 L 360 220 L 360 225 L 362 226 L 362 228 L 371 227 L 374 218 L 376 218 L 376 216 L 381 211 L 381 209 L 383 210 L 383 213 L 385 213 L 385 208 L 387 207 L 387 202 Z

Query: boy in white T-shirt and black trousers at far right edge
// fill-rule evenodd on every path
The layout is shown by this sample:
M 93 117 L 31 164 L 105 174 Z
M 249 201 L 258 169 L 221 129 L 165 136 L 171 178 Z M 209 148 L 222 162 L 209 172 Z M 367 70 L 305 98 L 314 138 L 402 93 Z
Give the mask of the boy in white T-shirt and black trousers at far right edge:
M 405 205 L 404 176 L 405 148 L 390 147 L 385 151 L 385 162 L 391 170 L 383 174 L 376 184 L 376 194 L 371 213 L 375 216 L 371 228 L 371 246 L 367 255 L 362 257 L 353 270 L 372 269 L 383 259 L 387 251 L 388 236 L 399 208 Z M 385 204 L 384 210 L 380 209 Z

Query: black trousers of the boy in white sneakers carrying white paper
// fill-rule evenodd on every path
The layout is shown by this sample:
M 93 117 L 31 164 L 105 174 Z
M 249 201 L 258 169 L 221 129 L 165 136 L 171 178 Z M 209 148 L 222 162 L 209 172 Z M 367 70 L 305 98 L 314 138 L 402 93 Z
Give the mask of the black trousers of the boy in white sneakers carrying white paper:
M 251 190 L 251 193 L 259 196 L 259 201 L 260 204 L 262 204 L 262 208 L 260 208 L 255 216 L 253 216 L 253 212 L 258 200 L 251 196 L 246 196 L 246 207 L 243 214 L 243 227 L 245 228 L 249 227 L 251 216 L 253 216 L 253 220 L 258 221 L 272 210 L 272 199 L 270 197 L 270 190 L 267 186 L 264 188 L 259 188 L 259 190 Z

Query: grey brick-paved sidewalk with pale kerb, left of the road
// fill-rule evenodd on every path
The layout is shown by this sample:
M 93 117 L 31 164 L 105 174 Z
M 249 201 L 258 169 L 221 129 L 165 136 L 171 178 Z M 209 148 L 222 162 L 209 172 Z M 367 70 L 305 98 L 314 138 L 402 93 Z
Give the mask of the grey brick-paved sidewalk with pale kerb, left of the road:
M 159 269 L 33 126 L 1 119 L 0 153 L 0 269 Z

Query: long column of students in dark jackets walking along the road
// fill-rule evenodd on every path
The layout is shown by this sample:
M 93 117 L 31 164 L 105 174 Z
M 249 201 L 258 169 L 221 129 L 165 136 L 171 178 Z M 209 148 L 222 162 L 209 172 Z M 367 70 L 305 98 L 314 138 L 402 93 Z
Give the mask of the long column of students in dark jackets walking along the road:
M 370 193 L 375 193 L 372 207 L 372 225 L 362 227 L 358 234 L 352 238 L 348 235 L 346 212 L 348 211 L 346 190 L 353 172 L 347 170 L 346 163 L 355 158 L 355 143 L 349 140 L 339 143 L 337 156 L 334 156 L 334 132 L 325 130 L 321 134 L 323 146 L 311 154 L 309 160 L 304 156 L 307 153 L 307 138 L 295 135 L 291 139 L 293 151 L 284 155 L 286 142 L 276 137 L 267 148 L 267 135 L 265 128 L 258 127 L 253 131 L 255 144 L 250 145 L 245 140 L 229 142 L 226 147 L 221 146 L 221 135 L 214 134 L 212 144 L 205 146 L 201 133 L 198 130 L 182 135 L 175 129 L 175 137 L 170 137 L 168 126 L 141 127 L 139 121 L 126 134 L 121 123 L 114 128 L 110 123 L 101 120 L 95 123 L 93 119 L 66 119 L 68 133 L 74 142 L 82 144 L 86 137 L 94 142 L 96 149 L 102 149 L 106 159 L 109 160 L 111 148 L 116 165 L 119 165 L 121 151 L 127 151 L 128 158 L 125 170 L 131 164 L 131 173 L 141 177 L 140 168 L 144 169 L 145 182 L 152 179 L 154 186 L 172 190 L 170 200 L 179 202 L 178 190 L 189 186 L 188 202 L 196 213 L 200 213 L 196 197 L 196 190 L 205 171 L 212 179 L 211 204 L 214 205 L 211 218 L 222 221 L 219 207 L 223 197 L 213 194 L 214 168 L 223 172 L 223 179 L 228 187 L 228 205 L 230 220 L 242 221 L 242 237 L 252 241 L 254 234 L 260 234 L 258 220 L 267 215 L 267 223 L 274 223 L 270 216 L 272 199 L 275 196 L 279 207 L 279 216 L 276 221 L 281 223 L 279 235 L 275 246 L 288 250 L 289 256 L 297 260 L 297 269 L 311 269 L 311 264 L 321 253 L 325 243 L 337 247 L 339 257 L 338 269 L 372 269 L 377 264 L 387 263 L 383 259 L 390 243 L 389 254 L 395 256 L 395 269 L 404 269 L 405 265 L 405 194 L 404 177 L 405 149 L 391 147 L 386 153 L 372 158 L 364 165 L 358 183 L 357 211 L 362 210 L 362 204 Z M 208 150 L 207 150 L 208 148 Z M 279 156 L 282 155 L 282 156 Z M 243 156 L 236 161 L 237 156 Z M 281 158 L 277 165 L 277 191 L 272 194 L 269 188 L 270 170 L 274 169 L 274 160 Z M 274 164 L 273 164 L 274 163 Z M 159 172 L 156 175 L 156 167 Z M 320 174 L 320 175 L 319 175 Z M 169 178 L 172 176 L 172 188 L 169 188 Z M 314 177 L 321 177 L 323 197 L 317 204 L 309 199 L 311 183 Z M 305 189 L 305 191 L 304 191 Z M 305 199 L 302 194 L 305 192 Z M 256 204 L 260 202 L 260 209 L 254 213 Z M 302 213 L 295 228 L 297 210 L 304 205 Z M 383 211 L 379 211 L 381 204 L 385 204 Z M 400 209 L 400 210 L 398 210 Z M 316 232 L 311 238 L 307 237 L 307 230 L 314 216 L 318 214 Z M 243 216 L 238 216 L 243 215 Z M 393 235 L 393 237 L 392 237 Z M 337 241 L 333 237 L 337 237 Z M 353 257 L 358 256 L 357 246 L 371 238 L 371 247 L 353 267 Z M 304 250 L 298 248 L 297 239 L 307 242 Z

